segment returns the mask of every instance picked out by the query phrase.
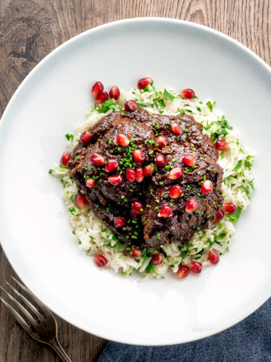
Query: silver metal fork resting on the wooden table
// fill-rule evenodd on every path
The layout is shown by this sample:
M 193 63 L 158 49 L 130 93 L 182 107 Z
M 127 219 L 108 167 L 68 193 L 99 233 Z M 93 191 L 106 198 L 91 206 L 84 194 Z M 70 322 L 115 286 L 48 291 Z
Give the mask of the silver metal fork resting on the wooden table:
M 0 288 L 10 297 L 10 299 L 17 305 L 20 311 L 26 316 L 25 321 L 20 314 L 0 296 L 0 300 L 6 305 L 6 307 L 12 312 L 17 321 L 25 329 L 25 331 L 38 342 L 48 344 L 51 346 L 60 358 L 64 362 L 71 362 L 70 358 L 61 347 L 57 337 L 57 322 L 52 312 L 37 298 L 30 290 L 25 287 L 22 283 L 11 277 L 28 295 L 30 295 L 37 305 L 41 308 L 44 315 L 42 315 L 37 308 L 35 308 L 18 290 L 16 290 L 9 282 L 6 281 L 7 285 L 17 294 L 19 298 L 36 314 L 36 318 L 32 315 L 2 286 Z

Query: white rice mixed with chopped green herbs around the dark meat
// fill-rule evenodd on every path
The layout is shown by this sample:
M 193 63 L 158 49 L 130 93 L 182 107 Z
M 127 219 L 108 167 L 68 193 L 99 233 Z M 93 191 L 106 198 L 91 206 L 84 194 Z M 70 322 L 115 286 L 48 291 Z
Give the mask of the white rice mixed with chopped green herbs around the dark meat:
M 64 193 L 63 198 L 68 208 L 69 220 L 73 227 L 72 233 L 79 241 L 79 248 L 89 255 L 103 254 L 108 260 L 107 265 L 120 272 L 123 276 L 131 275 L 133 270 L 143 273 L 146 278 L 165 278 L 169 269 L 176 273 L 180 264 L 189 264 L 190 261 L 200 261 L 203 265 L 210 263 L 209 250 L 215 250 L 220 255 L 229 250 L 230 239 L 234 234 L 234 225 L 240 213 L 250 203 L 250 194 L 253 190 L 253 174 L 251 170 L 253 156 L 249 155 L 239 144 L 238 134 L 228 125 L 224 115 L 215 107 L 215 102 L 207 100 L 202 103 L 195 97 L 193 100 L 182 99 L 180 95 L 165 88 L 148 85 L 143 91 L 130 89 L 121 93 L 118 102 L 107 100 L 90 111 L 84 124 L 77 128 L 76 135 L 66 135 L 68 152 L 72 153 L 78 144 L 80 134 L 92 127 L 103 116 L 112 111 L 123 110 L 127 100 L 135 100 L 140 107 L 151 113 L 163 115 L 189 114 L 201 123 L 203 132 L 213 141 L 223 139 L 228 143 L 226 151 L 220 152 L 218 163 L 224 169 L 221 185 L 225 203 L 233 203 L 237 207 L 235 214 L 226 214 L 220 221 L 212 225 L 211 229 L 202 229 L 195 232 L 188 243 L 174 242 L 149 250 L 144 249 L 139 259 L 132 259 L 122 254 L 126 244 L 120 241 L 88 207 L 79 209 L 74 204 L 74 196 L 78 193 L 71 171 L 62 165 L 56 166 L 49 172 L 61 177 Z M 164 253 L 164 262 L 155 266 L 151 259 L 156 252 Z M 141 279 L 142 280 L 142 279 Z

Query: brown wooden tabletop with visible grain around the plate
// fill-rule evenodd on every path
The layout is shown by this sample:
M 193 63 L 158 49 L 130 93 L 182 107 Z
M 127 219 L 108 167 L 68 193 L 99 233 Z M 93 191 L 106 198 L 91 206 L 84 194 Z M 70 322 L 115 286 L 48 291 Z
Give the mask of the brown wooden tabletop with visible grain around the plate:
M 189 20 L 219 30 L 271 64 L 269 0 L 1 0 L 0 114 L 18 85 L 50 51 L 73 36 L 133 17 Z M 15 275 L 0 248 L 0 285 Z M 73 362 L 97 360 L 106 340 L 58 319 L 60 341 Z M 59 362 L 32 340 L 0 304 L 0 362 Z

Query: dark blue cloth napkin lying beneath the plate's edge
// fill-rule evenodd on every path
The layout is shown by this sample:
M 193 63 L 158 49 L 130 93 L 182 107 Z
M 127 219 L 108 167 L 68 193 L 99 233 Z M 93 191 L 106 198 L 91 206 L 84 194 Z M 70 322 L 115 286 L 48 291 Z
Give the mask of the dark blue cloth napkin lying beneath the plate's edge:
M 271 298 L 231 328 L 211 337 L 171 346 L 109 342 L 98 362 L 270 362 Z

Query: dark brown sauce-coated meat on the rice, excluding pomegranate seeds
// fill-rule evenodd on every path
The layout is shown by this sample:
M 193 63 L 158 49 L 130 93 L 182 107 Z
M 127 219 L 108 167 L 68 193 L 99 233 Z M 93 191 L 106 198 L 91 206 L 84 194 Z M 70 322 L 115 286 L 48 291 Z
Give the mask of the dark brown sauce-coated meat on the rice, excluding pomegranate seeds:
M 173 122 L 181 126 L 181 135 L 173 133 Z M 129 243 L 129 250 L 174 241 L 188 242 L 197 230 L 211 227 L 223 204 L 223 169 L 217 164 L 218 151 L 214 144 L 202 133 L 202 125 L 192 117 L 152 115 L 142 109 L 131 113 L 114 112 L 103 117 L 89 132 L 92 135 L 90 144 L 86 147 L 79 143 L 74 149 L 68 163 L 71 174 L 95 215 L 119 239 Z M 116 144 L 116 135 L 119 133 L 128 136 L 128 146 Z M 167 137 L 168 145 L 158 145 L 156 138 L 160 135 Z M 133 149 L 143 151 L 143 163 L 133 161 Z M 105 162 L 109 159 L 117 160 L 119 168 L 106 172 L 104 165 L 93 165 L 90 158 L 94 153 L 102 155 Z M 129 182 L 126 179 L 128 168 L 154 165 L 157 153 L 165 156 L 166 166 L 155 167 L 152 175 L 145 176 L 142 182 Z M 195 166 L 184 164 L 182 159 L 186 155 L 194 156 Z M 181 167 L 183 174 L 177 179 L 170 179 L 167 173 L 175 167 Z M 108 177 L 113 174 L 123 176 L 120 185 L 113 186 L 108 182 Z M 86 187 L 88 178 L 95 179 L 95 186 L 91 189 Z M 213 191 L 204 194 L 201 185 L 206 179 L 212 182 Z M 173 185 L 180 185 L 183 189 L 183 195 L 174 200 L 169 194 Z M 198 202 L 193 212 L 185 210 L 190 198 Z M 131 212 L 131 203 L 134 201 L 143 204 L 140 215 Z M 160 217 L 159 211 L 166 205 L 172 207 L 172 215 Z M 117 216 L 125 219 L 124 226 L 115 227 L 114 218 Z

